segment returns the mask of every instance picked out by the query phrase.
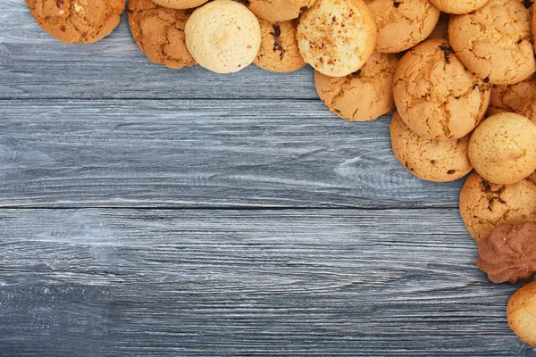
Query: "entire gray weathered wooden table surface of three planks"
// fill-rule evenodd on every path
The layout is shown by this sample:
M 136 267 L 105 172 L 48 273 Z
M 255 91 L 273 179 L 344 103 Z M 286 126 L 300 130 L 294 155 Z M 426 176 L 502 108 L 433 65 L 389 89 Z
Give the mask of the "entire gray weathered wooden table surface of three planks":
M 0 3 L 0 355 L 536 356 L 389 117 L 328 112 L 310 68 L 147 62 Z

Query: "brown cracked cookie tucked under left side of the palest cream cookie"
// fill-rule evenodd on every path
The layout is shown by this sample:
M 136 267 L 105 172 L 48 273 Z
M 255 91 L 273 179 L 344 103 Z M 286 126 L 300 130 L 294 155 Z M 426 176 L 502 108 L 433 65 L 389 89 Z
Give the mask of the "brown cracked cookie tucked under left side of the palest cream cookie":
M 132 37 L 151 62 L 173 69 L 196 64 L 188 53 L 184 27 L 189 13 L 162 7 L 151 0 L 130 0 L 128 19 Z

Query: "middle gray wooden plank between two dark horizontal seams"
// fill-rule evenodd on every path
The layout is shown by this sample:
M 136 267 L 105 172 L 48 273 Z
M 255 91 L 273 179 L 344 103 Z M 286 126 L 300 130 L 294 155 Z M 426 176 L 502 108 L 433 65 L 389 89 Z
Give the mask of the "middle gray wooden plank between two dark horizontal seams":
M 4 101 L 0 205 L 457 207 L 463 179 L 416 179 L 389 117 L 322 103 Z

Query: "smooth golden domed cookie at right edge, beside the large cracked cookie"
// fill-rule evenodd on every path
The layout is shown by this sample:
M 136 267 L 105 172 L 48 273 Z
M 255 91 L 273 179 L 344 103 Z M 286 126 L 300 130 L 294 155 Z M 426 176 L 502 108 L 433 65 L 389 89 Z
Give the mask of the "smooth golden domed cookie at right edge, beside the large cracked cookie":
M 536 124 L 513 112 L 490 116 L 469 140 L 469 160 L 494 184 L 525 179 L 536 170 Z

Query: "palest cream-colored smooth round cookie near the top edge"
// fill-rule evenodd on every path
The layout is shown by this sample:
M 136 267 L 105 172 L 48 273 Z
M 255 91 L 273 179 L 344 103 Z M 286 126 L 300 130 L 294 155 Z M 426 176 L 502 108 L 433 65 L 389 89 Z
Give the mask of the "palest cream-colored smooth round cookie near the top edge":
M 184 33 L 192 57 L 216 73 L 243 70 L 261 47 L 259 21 L 246 6 L 230 0 L 198 8 L 186 22 Z

